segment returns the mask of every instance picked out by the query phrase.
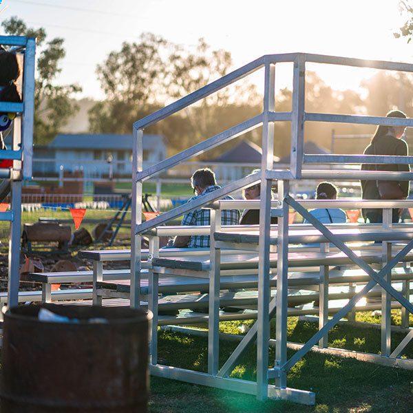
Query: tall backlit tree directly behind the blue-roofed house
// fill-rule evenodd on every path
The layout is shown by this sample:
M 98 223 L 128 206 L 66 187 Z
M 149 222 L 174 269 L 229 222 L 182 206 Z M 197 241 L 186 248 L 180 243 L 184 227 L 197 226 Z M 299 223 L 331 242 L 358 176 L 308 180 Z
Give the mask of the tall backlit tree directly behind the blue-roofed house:
M 106 98 L 89 111 L 93 132 L 129 134 L 136 120 L 160 107 L 167 47 L 161 36 L 144 33 L 138 43 L 124 42 L 98 65 L 96 74 Z

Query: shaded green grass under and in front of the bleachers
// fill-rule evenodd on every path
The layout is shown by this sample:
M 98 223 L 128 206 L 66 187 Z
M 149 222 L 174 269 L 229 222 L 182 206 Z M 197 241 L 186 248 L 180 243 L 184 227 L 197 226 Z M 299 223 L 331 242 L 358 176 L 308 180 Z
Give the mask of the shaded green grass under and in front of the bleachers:
M 392 313 L 394 323 L 399 312 Z M 360 321 L 380 322 L 380 317 L 370 313 L 357 313 Z M 412 319 L 413 321 L 413 319 Z M 225 332 L 237 334 L 240 324 L 253 321 L 231 321 L 220 324 Z M 275 338 L 275 324 L 271 337 Z M 317 325 L 288 320 L 288 340 L 304 342 L 317 331 Z M 392 333 L 392 348 L 403 338 Z M 220 341 L 220 365 L 235 348 L 233 341 Z M 379 353 L 380 330 L 360 328 L 349 324 L 336 326 L 329 335 L 329 346 Z M 207 338 L 191 337 L 176 332 L 159 332 L 159 357 L 165 363 L 180 368 L 207 371 Z M 288 357 L 293 351 L 288 351 Z M 232 377 L 255 380 L 256 348 L 246 352 L 235 368 Z M 275 352 L 270 348 L 270 361 Z M 413 357 L 413 344 L 407 347 L 405 357 Z M 373 363 L 343 359 L 331 355 L 308 353 L 288 372 L 288 386 L 311 390 L 316 394 L 315 406 L 297 405 L 268 400 L 264 403 L 255 396 L 191 385 L 159 377 L 151 377 L 151 412 L 412 412 L 413 372 L 398 368 L 377 366 Z

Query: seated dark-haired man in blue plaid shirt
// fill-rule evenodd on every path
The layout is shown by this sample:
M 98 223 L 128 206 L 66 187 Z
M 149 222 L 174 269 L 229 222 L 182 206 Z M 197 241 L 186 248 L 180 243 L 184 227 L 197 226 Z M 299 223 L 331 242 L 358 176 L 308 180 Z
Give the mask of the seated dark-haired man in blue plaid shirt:
M 215 180 L 215 173 L 209 168 L 198 169 L 191 177 L 191 185 L 193 192 L 196 194 L 188 202 L 196 200 L 207 193 L 220 189 Z M 231 196 L 222 198 L 223 200 L 233 200 Z M 237 209 L 226 209 L 222 211 L 221 215 L 222 225 L 237 225 L 240 223 L 240 211 Z M 195 209 L 184 215 L 181 225 L 209 225 L 210 211 L 209 209 Z M 200 248 L 209 247 L 209 235 L 192 235 L 184 236 L 178 235 L 173 241 L 173 246 Z

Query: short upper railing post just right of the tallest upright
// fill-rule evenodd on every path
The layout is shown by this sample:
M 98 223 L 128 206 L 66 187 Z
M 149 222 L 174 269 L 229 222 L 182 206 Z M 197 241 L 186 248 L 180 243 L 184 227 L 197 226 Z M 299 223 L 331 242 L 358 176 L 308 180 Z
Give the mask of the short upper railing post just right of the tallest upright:
M 301 178 L 304 146 L 304 103 L 305 103 L 306 61 L 304 54 L 298 54 L 293 70 L 293 109 L 291 114 L 290 169 L 293 176 Z

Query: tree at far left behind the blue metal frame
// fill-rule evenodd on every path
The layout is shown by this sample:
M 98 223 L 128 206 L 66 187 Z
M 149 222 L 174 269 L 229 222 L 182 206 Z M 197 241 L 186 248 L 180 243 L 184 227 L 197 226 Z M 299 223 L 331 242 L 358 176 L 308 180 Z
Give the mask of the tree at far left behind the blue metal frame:
M 34 90 L 34 142 L 45 145 L 59 133 L 59 130 L 78 107 L 71 99 L 81 92 L 78 85 L 54 85 L 56 75 L 61 72 L 59 63 L 65 57 L 63 39 L 46 41 L 44 28 L 33 29 L 17 17 L 1 23 L 6 34 L 36 37 L 41 50 L 37 58 L 36 88 Z M 38 52 L 39 53 L 39 52 Z

